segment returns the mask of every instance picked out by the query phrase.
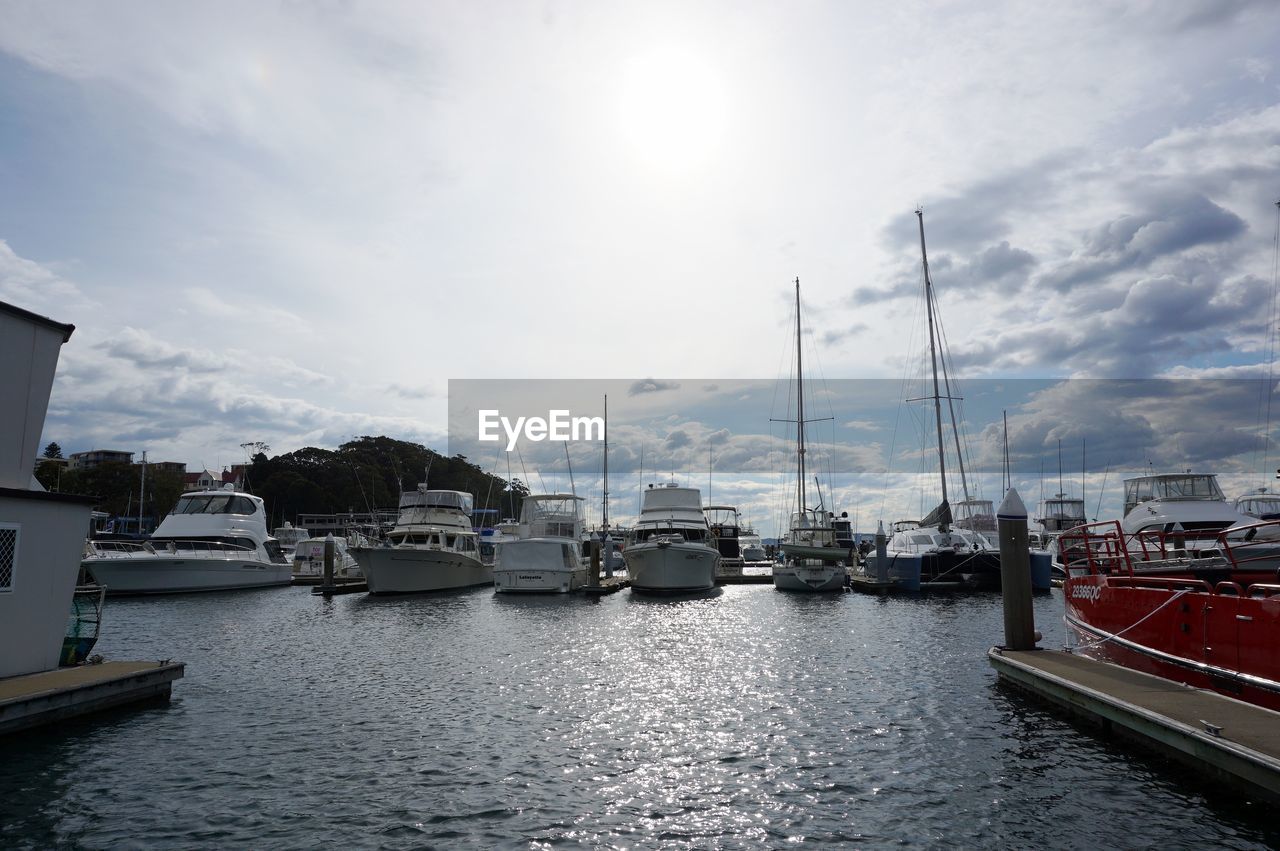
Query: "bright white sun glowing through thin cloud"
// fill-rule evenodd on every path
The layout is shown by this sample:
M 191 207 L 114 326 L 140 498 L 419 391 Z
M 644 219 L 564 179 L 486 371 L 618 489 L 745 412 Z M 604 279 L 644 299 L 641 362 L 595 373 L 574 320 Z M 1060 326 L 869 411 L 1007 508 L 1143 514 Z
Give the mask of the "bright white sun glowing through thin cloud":
M 684 173 L 709 163 L 724 136 L 724 86 L 716 67 L 666 46 L 626 63 L 618 96 L 622 136 L 652 168 Z

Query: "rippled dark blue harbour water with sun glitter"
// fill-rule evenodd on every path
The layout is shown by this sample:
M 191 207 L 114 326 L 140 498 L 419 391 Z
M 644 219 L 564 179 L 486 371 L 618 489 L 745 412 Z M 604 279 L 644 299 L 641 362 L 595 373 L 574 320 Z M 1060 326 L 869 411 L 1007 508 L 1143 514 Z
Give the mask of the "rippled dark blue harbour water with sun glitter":
M 1059 591 L 1036 600 L 1062 646 Z M 0 741 L 4 847 L 1266 847 L 997 686 L 995 595 L 111 599 L 168 706 Z

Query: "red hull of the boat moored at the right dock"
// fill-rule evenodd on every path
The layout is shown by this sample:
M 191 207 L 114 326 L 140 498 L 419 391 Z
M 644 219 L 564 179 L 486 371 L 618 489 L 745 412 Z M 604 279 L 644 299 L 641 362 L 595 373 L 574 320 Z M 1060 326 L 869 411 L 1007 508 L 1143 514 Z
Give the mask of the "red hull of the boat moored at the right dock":
M 1280 586 L 1224 586 L 1069 576 L 1066 622 L 1082 655 L 1280 712 Z

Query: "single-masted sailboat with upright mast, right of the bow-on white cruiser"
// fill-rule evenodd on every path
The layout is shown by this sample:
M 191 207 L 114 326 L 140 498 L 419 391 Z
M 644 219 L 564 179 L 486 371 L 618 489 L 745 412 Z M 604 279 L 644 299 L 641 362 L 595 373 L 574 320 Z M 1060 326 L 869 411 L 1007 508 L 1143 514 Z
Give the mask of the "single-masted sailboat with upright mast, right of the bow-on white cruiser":
M 796 512 L 780 548 L 785 561 L 773 566 L 773 587 L 783 591 L 840 591 L 849 572 L 844 559 L 851 550 L 836 544 L 831 514 L 810 508 L 804 468 L 804 357 L 800 337 L 800 279 L 796 278 Z

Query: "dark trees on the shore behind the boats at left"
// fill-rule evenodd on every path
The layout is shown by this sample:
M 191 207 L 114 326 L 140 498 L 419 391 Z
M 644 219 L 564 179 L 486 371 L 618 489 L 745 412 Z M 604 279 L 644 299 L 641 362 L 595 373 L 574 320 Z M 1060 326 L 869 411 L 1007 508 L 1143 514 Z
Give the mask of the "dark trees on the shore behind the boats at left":
M 67 470 L 55 458 L 61 458 L 61 449 L 51 443 L 45 448 L 45 461 L 36 466 L 36 479 L 45 489 L 96 497 L 97 511 L 113 516 L 140 514 L 141 465 Z M 421 444 L 387 436 L 356 438 L 337 449 L 307 447 L 274 458 L 259 452 L 246 472 L 244 488 L 262 498 L 273 527 L 296 521 L 298 514 L 396 508 L 401 491 L 413 490 L 421 481 L 433 489 L 470 493 L 476 508 L 490 508 L 504 517 L 516 516 L 520 499 L 529 493 L 520 479 L 508 482 L 466 456 L 445 457 Z M 141 513 L 160 521 L 182 493 L 179 473 L 148 470 Z

